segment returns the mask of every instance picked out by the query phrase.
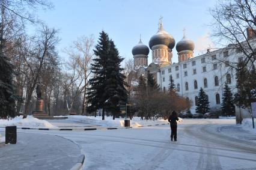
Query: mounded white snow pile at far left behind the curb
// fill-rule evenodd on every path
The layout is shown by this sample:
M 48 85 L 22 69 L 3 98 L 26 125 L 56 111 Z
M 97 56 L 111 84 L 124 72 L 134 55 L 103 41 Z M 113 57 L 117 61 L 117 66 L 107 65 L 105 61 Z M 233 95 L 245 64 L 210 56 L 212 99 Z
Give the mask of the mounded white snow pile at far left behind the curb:
M 11 120 L 0 119 L 0 127 L 5 126 L 17 126 L 17 127 L 37 127 L 37 128 L 56 128 L 45 120 L 38 120 L 32 116 L 27 116 L 23 119 L 23 116 L 15 117 Z

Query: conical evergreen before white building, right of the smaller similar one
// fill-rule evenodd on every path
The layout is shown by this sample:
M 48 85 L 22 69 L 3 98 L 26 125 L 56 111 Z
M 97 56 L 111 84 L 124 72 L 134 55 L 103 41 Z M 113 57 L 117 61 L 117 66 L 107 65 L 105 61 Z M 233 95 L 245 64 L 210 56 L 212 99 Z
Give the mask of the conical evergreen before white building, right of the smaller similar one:
M 227 83 L 225 83 L 225 87 L 224 87 L 221 109 L 222 109 L 222 114 L 224 114 L 225 116 L 235 114 L 233 94 L 231 93 L 230 87 L 228 87 Z

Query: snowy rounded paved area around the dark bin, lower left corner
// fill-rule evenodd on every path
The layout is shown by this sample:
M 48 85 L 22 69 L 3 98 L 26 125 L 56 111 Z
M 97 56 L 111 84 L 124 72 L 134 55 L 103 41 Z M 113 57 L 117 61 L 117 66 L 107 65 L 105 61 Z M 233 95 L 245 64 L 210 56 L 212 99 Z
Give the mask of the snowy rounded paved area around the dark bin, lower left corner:
M 5 132 L 0 132 L 2 136 Z M 81 157 L 81 149 L 55 135 L 17 133 L 17 144 L 0 146 L 0 169 L 70 169 Z

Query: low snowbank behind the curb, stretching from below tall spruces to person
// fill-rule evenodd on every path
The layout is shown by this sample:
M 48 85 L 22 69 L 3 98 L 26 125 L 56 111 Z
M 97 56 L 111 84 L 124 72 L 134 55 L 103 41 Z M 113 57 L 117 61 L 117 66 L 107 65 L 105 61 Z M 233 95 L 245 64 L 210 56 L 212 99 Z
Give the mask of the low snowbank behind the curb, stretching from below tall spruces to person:
M 112 117 L 105 117 L 105 120 L 102 120 L 102 117 L 87 117 L 87 116 L 81 116 L 81 115 L 72 115 L 68 116 L 69 120 L 76 120 L 83 123 L 93 124 L 96 126 L 103 126 L 103 127 L 124 127 L 124 118 L 115 118 L 113 120 Z M 181 118 L 179 118 L 178 122 L 183 121 Z M 154 125 L 154 124 L 162 124 L 162 123 L 168 123 L 168 120 L 141 120 L 140 117 L 133 117 L 132 120 L 130 120 L 130 126 L 131 127 L 139 127 L 139 126 L 148 126 L 148 125 Z

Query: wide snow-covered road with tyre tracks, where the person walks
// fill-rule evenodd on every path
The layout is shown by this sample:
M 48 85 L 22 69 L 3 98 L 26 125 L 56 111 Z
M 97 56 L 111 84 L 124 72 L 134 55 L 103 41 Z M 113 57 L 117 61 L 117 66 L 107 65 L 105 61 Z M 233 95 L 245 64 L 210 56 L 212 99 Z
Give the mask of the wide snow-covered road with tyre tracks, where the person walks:
M 254 142 L 218 132 L 233 124 L 234 120 L 187 119 L 178 124 L 177 142 L 170 141 L 168 125 L 29 133 L 50 133 L 78 142 L 86 157 L 84 169 L 256 169 Z

